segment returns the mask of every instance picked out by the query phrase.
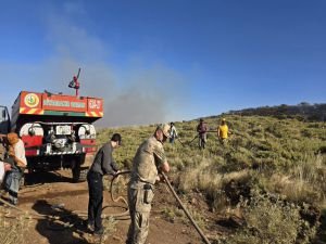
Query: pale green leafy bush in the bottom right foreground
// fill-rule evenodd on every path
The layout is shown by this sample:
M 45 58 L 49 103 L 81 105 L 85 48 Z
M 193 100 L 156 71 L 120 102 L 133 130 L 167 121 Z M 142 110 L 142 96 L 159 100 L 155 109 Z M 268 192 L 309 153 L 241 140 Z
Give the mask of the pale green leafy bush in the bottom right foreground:
M 226 243 L 291 244 L 310 243 L 315 227 L 301 219 L 300 207 L 269 194 L 251 192 L 252 197 L 241 201 L 246 224 Z

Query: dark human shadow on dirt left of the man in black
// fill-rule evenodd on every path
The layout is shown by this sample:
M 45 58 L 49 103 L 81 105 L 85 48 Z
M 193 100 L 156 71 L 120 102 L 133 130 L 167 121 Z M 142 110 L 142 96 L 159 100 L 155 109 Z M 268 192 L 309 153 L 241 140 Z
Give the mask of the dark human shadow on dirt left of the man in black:
M 45 200 L 37 201 L 32 208 L 45 217 L 38 220 L 35 229 L 47 237 L 50 244 L 89 244 L 85 220 L 78 215 L 64 206 L 51 205 Z

